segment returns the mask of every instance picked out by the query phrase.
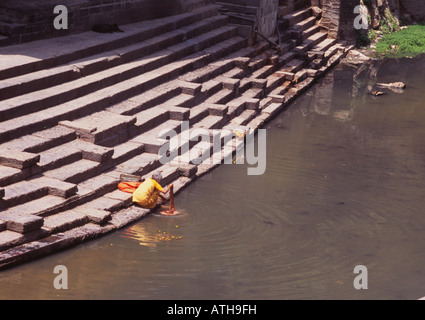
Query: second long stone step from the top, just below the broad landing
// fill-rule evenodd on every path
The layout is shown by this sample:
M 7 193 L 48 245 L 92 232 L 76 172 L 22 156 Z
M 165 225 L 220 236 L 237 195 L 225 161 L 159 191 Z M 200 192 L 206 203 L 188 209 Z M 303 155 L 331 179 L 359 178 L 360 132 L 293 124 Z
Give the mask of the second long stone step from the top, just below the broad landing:
M 40 70 L 10 78 L 7 81 L 0 82 L 0 97 L 2 100 L 10 99 L 14 96 L 39 91 L 81 77 L 87 77 L 93 73 L 116 67 L 151 55 L 157 51 L 164 50 L 167 47 L 199 36 L 202 33 L 217 29 L 226 22 L 226 17 L 213 16 L 189 26 L 155 36 L 141 43 L 108 52 L 102 52 L 101 54 L 76 60 L 70 64 L 58 66 L 56 68 Z

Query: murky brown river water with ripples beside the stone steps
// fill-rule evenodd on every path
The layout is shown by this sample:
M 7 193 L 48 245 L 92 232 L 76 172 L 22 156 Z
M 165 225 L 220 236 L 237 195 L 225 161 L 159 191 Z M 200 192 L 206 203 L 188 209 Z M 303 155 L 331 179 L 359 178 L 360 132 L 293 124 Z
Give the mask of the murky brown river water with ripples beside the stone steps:
M 178 194 L 179 216 L 1 272 L 0 298 L 425 296 L 424 79 L 424 57 L 338 66 L 266 125 L 264 175 L 222 165 Z M 407 88 L 374 97 L 376 81 Z

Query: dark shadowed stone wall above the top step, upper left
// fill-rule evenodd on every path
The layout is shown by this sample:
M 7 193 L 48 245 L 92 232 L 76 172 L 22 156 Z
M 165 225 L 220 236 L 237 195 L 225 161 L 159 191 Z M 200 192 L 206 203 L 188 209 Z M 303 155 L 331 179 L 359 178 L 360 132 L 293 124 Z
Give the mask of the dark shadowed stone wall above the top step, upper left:
M 189 11 L 213 0 L 14 0 L 0 2 L 0 34 L 27 42 L 90 30 L 96 23 L 128 24 Z M 53 9 L 68 9 L 67 30 L 56 30 Z

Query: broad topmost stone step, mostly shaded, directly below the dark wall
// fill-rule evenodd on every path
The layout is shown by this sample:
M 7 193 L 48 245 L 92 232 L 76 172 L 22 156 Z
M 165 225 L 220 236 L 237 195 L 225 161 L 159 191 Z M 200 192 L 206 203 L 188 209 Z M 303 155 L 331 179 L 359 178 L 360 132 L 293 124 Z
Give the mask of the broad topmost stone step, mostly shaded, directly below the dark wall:
M 67 36 L 66 42 L 60 37 L 5 47 L 2 48 L 2 53 L 9 55 L 9 59 L 0 61 L 0 80 L 140 43 L 164 32 L 210 18 L 217 13 L 218 6 L 207 5 L 171 17 L 126 25 L 126 32 L 114 35 L 112 39 L 109 35 L 94 37 L 90 31 Z M 29 49 L 33 53 L 31 56 L 26 54 Z

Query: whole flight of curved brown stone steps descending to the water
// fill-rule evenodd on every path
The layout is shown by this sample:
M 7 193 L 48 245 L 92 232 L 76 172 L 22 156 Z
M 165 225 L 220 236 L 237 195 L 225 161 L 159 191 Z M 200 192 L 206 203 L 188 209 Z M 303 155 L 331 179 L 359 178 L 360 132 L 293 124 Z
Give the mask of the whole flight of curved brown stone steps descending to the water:
M 122 173 L 178 192 L 218 165 L 162 164 L 162 129 L 257 130 L 347 52 L 310 8 L 282 17 L 279 51 L 219 9 L 0 48 L 0 268 L 142 218 Z

